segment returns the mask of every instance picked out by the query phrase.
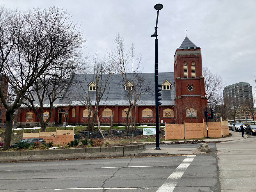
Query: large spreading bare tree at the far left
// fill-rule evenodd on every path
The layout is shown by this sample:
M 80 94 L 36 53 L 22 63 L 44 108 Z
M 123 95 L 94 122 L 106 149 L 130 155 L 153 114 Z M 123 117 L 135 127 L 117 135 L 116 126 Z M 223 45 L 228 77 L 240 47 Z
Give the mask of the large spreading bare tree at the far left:
M 21 106 L 25 94 L 58 58 L 68 58 L 80 52 L 83 31 L 70 22 L 70 15 L 59 7 L 34 8 L 23 14 L 1 9 L 0 73 L 8 77 L 8 93 L 15 96 L 9 106 L 6 102 L 6 138 L 3 149 L 11 139 L 15 109 Z M 3 93 L 0 90 L 3 100 Z

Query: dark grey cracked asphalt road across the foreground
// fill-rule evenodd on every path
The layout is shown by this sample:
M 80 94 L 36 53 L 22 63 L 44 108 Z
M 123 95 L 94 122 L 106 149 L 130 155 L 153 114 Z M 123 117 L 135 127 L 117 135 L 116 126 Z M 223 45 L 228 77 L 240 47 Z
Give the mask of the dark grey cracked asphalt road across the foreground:
M 215 192 L 220 188 L 213 152 L 193 156 L 0 163 L 0 191 Z

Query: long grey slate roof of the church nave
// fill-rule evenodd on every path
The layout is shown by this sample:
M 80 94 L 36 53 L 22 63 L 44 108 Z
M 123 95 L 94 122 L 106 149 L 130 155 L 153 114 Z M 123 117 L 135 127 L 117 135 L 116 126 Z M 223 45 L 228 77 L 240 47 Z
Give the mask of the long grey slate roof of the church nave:
M 144 86 L 149 85 L 150 93 L 145 93 L 139 100 L 136 102 L 136 105 L 139 106 L 150 106 L 155 105 L 155 82 L 154 82 L 154 73 L 141 73 L 140 77 L 144 79 Z M 130 79 L 129 79 L 130 76 Z M 103 79 L 106 78 L 107 75 L 103 75 Z M 127 74 L 128 80 L 133 83 L 132 74 Z M 161 93 L 161 102 L 162 106 L 174 106 L 174 98 L 175 98 L 175 88 L 174 88 L 174 72 L 164 72 L 158 73 L 158 83 L 162 84 L 165 80 L 168 80 L 172 85 L 170 90 L 162 90 Z M 105 94 L 102 97 L 102 100 L 99 105 L 107 105 L 107 106 L 124 106 L 129 105 L 129 101 L 127 99 L 127 91 L 125 91 L 124 84 L 121 74 L 111 74 L 111 83 L 109 86 L 109 94 Z M 60 101 L 57 99 L 54 102 L 55 107 L 61 106 L 76 106 L 81 105 L 84 106 L 86 103 L 86 93 L 89 92 L 90 98 L 93 103 L 95 103 L 95 95 L 96 91 L 88 91 L 88 84 L 94 81 L 93 74 L 75 74 L 71 83 L 69 84 L 63 99 Z M 107 97 L 107 102 L 105 102 Z M 34 102 L 36 103 L 36 101 Z M 47 108 L 49 105 L 44 103 L 44 107 Z M 22 105 L 21 107 L 26 107 Z

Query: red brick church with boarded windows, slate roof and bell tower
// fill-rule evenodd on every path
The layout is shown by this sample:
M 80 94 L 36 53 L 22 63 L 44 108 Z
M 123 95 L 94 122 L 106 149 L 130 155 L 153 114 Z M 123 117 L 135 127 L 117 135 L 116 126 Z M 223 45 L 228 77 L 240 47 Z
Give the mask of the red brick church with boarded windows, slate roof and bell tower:
M 175 52 L 174 72 L 158 73 L 158 82 L 162 85 L 162 105 L 159 106 L 159 121 L 163 120 L 166 123 L 202 122 L 207 99 L 205 98 L 200 50 L 200 47 L 195 46 L 186 37 Z M 143 77 L 143 81 L 147 82 L 145 85 L 154 86 L 154 73 L 142 73 L 140 75 Z M 54 102 L 48 126 L 65 122 L 65 113 L 68 113 L 68 125 L 87 124 L 88 110 L 85 102 L 81 98 L 79 99 L 77 95 L 83 95 L 83 90 L 93 98 L 97 85 L 93 81 L 93 74 L 75 74 L 72 79 L 76 82 L 80 81 L 80 86 L 83 89 L 70 84 L 63 90 L 63 94 Z M 129 107 L 127 91 L 132 90 L 134 85 L 132 79 L 123 82 L 121 74 L 111 74 L 111 79 L 108 96 L 103 97 L 99 104 L 99 114 L 102 114 L 99 121 L 108 124 L 114 112 L 113 124 L 122 125 L 126 122 L 125 111 Z M 40 110 L 38 109 L 38 111 Z M 44 104 L 43 111 L 43 117 L 47 119 L 49 116 L 47 102 Z M 154 90 L 152 92 L 147 91 L 136 101 L 136 123 L 154 124 L 156 122 L 154 113 Z M 132 114 L 134 117 L 134 108 Z M 15 123 L 17 123 L 17 127 L 40 126 L 35 113 L 25 105 L 18 109 L 17 122 Z

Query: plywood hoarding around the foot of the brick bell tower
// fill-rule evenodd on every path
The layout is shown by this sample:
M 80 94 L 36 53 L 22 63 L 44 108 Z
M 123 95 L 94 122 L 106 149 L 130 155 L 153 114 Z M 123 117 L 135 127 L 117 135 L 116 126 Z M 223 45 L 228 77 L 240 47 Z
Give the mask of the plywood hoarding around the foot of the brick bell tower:
M 208 122 L 209 137 L 225 137 L 229 135 L 228 122 Z M 206 122 L 166 124 L 165 139 L 190 139 L 202 138 L 207 136 Z

